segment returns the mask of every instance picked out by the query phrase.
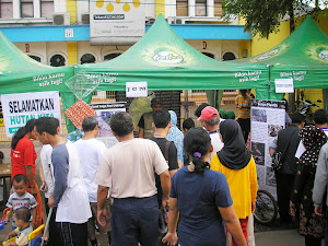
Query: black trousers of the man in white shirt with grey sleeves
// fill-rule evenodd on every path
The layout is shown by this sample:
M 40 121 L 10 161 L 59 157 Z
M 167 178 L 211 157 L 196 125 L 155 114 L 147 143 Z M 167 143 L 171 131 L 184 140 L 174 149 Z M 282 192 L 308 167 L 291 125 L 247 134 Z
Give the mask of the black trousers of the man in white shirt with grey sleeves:
M 74 224 L 69 222 L 56 222 L 60 230 L 62 246 L 87 246 L 87 222 Z

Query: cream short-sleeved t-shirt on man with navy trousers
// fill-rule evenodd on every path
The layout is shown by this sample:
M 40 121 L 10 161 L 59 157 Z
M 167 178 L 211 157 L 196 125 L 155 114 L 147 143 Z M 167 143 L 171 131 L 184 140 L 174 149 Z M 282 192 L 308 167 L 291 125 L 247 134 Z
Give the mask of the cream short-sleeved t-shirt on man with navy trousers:
M 149 139 L 122 141 L 106 150 L 96 184 L 112 188 L 114 198 L 143 198 L 157 192 L 155 175 L 168 169 L 159 145 Z

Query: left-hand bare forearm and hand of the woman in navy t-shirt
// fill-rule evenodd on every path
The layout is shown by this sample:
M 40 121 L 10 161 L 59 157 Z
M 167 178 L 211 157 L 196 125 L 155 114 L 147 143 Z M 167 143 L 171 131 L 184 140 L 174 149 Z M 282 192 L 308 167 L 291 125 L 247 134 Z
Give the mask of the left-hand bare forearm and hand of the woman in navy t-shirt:
M 177 244 L 177 234 L 176 234 L 177 221 L 178 221 L 177 199 L 169 198 L 169 211 L 168 211 L 168 224 L 167 224 L 168 232 L 162 241 L 163 243 L 167 243 L 169 246 L 174 246 Z

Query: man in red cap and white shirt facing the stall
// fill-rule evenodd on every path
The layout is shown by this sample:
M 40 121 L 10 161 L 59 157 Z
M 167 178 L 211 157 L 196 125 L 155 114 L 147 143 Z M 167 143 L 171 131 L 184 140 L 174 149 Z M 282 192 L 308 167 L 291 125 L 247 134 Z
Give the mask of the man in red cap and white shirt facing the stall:
M 224 119 L 220 118 L 220 114 L 216 108 L 207 106 L 201 110 L 201 115 L 197 120 L 201 121 L 202 127 L 209 132 L 211 137 L 211 143 L 213 145 L 213 152 L 210 157 L 211 161 L 213 155 L 223 148 L 223 142 L 221 141 L 219 136 L 219 126 L 220 122 Z

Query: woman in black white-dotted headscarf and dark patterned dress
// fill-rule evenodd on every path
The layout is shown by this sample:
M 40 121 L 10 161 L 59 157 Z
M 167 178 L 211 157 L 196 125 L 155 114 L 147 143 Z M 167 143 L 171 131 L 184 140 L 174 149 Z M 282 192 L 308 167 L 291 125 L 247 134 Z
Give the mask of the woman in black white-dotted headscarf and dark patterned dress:
M 305 236 L 305 245 L 319 246 L 325 236 L 326 219 L 315 214 L 312 195 L 318 155 L 328 139 L 325 132 L 315 126 L 304 127 L 300 137 L 306 151 L 297 163 L 291 214 L 295 216 L 295 210 L 300 208 L 300 234 Z

